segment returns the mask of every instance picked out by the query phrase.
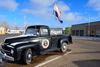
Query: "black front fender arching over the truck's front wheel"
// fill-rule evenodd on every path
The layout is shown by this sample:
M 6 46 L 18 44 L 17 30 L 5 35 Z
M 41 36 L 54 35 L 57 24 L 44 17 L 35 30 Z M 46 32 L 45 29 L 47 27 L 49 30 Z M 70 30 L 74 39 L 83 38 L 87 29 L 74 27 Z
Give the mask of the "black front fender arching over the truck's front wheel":
M 37 55 L 40 55 L 40 48 L 39 43 L 23 43 L 23 44 L 17 44 L 15 46 L 15 59 L 19 60 L 21 57 L 21 54 L 23 50 L 27 48 L 34 49 Z

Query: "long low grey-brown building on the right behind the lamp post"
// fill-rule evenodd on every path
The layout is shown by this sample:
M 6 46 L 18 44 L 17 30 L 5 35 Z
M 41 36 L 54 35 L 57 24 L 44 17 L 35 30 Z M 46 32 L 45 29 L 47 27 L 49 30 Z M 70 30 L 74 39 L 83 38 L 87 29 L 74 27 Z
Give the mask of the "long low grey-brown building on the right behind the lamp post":
M 90 31 L 88 31 L 88 23 L 72 25 L 73 36 L 89 36 L 100 37 L 100 21 L 90 22 Z

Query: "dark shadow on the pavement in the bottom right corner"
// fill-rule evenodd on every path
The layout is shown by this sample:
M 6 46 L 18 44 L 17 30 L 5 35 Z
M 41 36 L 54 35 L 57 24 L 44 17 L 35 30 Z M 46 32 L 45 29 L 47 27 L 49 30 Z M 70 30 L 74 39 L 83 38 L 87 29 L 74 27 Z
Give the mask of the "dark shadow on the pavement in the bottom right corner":
M 100 67 L 100 60 L 83 60 L 83 61 L 74 61 L 78 67 Z

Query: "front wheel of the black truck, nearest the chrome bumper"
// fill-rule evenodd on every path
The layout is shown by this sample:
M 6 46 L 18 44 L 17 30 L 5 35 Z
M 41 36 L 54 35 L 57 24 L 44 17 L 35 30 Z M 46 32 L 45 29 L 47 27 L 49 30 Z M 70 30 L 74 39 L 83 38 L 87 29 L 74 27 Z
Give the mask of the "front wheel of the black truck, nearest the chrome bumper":
M 32 61 L 32 50 L 30 48 L 25 50 L 23 60 L 24 60 L 24 63 L 27 64 L 27 65 L 31 63 L 31 61 Z

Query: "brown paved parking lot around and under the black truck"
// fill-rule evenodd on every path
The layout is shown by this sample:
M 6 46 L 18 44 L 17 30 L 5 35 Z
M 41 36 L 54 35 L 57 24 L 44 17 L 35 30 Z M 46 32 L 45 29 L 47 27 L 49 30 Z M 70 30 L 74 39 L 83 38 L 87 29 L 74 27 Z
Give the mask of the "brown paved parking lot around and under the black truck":
M 17 35 L 0 35 L 0 43 L 6 37 Z M 59 50 L 45 55 L 34 56 L 30 65 L 23 61 L 7 61 L 0 63 L 0 67 L 100 67 L 100 40 L 73 38 L 73 44 L 68 45 L 66 53 Z

